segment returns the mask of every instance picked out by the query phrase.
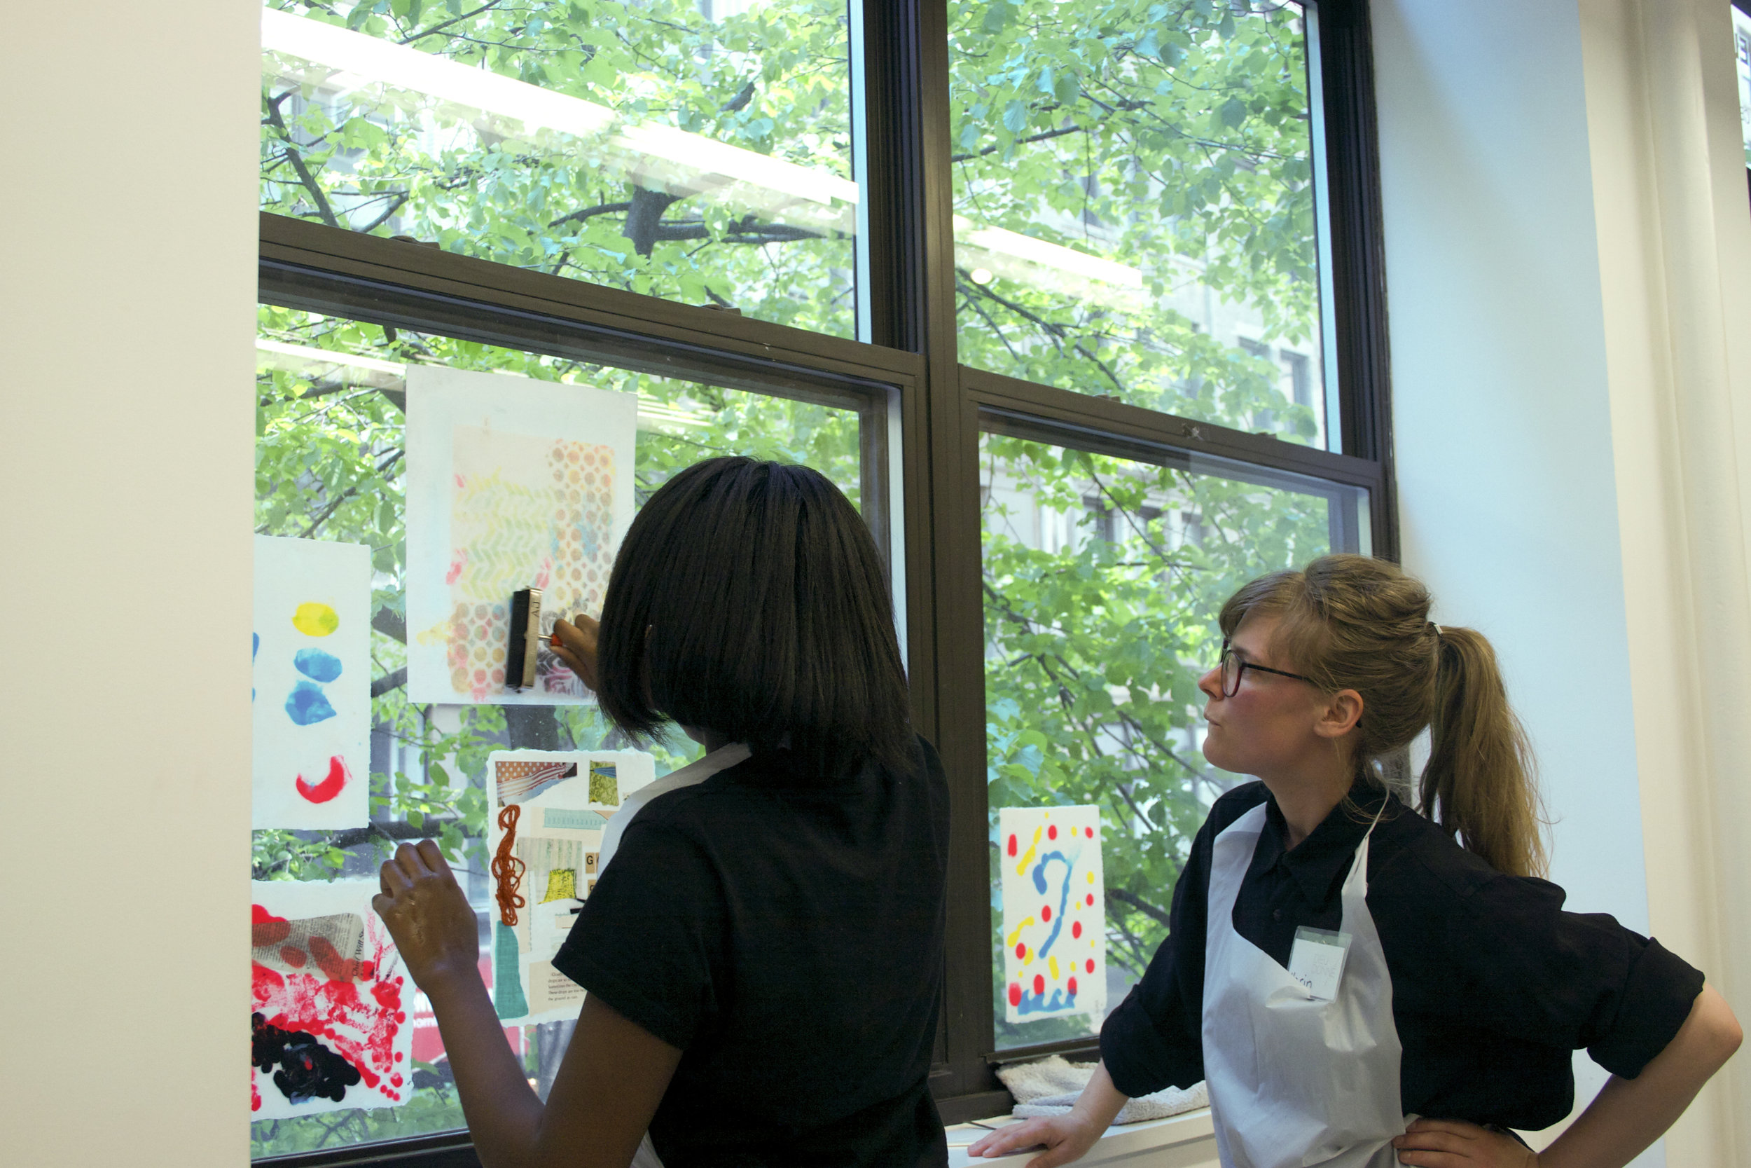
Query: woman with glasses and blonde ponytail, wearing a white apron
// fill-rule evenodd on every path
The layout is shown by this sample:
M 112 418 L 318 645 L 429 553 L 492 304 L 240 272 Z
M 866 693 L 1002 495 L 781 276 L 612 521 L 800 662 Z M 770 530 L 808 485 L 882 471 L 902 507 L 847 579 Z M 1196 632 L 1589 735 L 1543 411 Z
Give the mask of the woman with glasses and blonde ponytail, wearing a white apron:
M 1128 1096 L 1199 1079 L 1234 1168 L 1616 1168 L 1653 1143 L 1739 1024 L 1700 972 L 1539 879 L 1530 755 L 1488 641 L 1357 555 L 1245 585 L 1220 625 L 1203 749 L 1259 781 L 1198 832 L 1075 1108 L 968 1150 L 1044 1143 L 1030 1168 L 1063 1164 Z M 1380 760 L 1425 727 L 1411 809 Z M 1534 1156 L 1506 1129 L 1569 1114 L 1579 1047 L 1613 1077 Z

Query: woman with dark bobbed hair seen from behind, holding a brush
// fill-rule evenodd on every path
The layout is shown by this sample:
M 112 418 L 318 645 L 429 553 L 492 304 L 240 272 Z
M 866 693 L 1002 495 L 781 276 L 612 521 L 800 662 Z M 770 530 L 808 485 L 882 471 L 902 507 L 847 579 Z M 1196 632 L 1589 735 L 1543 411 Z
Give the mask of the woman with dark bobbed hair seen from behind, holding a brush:
M 856 510 L 802 466 L 692 466 L 634 518 L 601 625 L 553 643 L 634 741 L 674 721 L 707 753 L 604 832 L 553 961 L 588 996 L 546 1105 L 438 848 L 383 865 L 485 1168 L 944 1164 L 947 788 Z

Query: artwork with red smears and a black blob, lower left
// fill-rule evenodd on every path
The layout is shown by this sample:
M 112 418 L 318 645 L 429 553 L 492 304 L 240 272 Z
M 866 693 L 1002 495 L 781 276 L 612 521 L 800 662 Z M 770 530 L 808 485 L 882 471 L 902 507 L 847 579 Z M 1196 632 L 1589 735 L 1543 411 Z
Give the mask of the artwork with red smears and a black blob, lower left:
M 413 1094 L 413 982 L 376 891 L 375 879 L 250 883 L 250 1119 Z

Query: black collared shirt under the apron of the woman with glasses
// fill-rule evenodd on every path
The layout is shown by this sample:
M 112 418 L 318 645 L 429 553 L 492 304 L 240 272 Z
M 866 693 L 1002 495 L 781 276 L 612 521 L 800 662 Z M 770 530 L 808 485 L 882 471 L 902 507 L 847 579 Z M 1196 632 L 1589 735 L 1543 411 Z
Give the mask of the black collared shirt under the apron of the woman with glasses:
M 1192 841 L 1170 935 L 1101 1028 L 1101 1058 L 1129 1096 L 1203 1079 L 1205 919 L 1217 834 L 1266 806 L 1234 898 L 1234 930 L 1289 965 L 1296 928 L 1336 930 L 1343 879 L 1383 795 L 1357 786 L 1297 848 L 1262 783 L 1226 793 Z M 1602 912 L 1564 912 L 1564 891 L 1502 876 L 1387 797 L 1368 853 L 1368 911 L 1392 974 L 1406 1114 L 1536 1131 L 1574 1103 L 1571 1051 L 1634 1079 L 1665 1049 L 1702 974 Z M 1359 814 L 1361 813 L 1361 814 Z

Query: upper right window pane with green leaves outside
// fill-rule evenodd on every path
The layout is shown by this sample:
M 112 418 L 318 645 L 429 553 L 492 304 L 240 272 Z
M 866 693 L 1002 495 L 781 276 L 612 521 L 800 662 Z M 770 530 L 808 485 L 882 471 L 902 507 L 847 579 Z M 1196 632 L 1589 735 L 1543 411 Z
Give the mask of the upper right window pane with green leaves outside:
M 1334 447 L 1306 58 L 1294 4 L 954 0 L 961 361 Z

